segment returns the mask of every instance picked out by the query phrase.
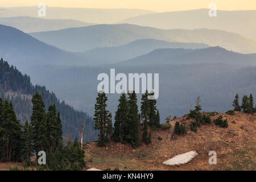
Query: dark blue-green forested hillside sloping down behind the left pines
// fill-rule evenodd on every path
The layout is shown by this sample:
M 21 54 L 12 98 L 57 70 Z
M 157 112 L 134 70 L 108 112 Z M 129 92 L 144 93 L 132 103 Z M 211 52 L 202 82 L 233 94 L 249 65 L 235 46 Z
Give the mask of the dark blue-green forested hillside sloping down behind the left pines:
M 73 109 L 72 106 L 65 104 L 55 96 L 55 93 L 49 92 L 45 86 L 33 86 L 30 77 L 22 75 L 13 65 L 9 65 L 7 61 L 0 61 L 0 96 L 7 98 L 13 102 L 15 113 L 21 123 L 26 119 L 30 120 L 32 113 L 31 98 L 32 94 L 39 92 L 42 94 L 45 107 L 55 104 L 56 110 L 61 113 L 61 121 L 63 125 L 63 135 L 79 137 L 82 124 L 85 125 L 84 137 L 86 140 L 94 140 L 97 137 L 94 131 L 94 121 L 88 114 Z

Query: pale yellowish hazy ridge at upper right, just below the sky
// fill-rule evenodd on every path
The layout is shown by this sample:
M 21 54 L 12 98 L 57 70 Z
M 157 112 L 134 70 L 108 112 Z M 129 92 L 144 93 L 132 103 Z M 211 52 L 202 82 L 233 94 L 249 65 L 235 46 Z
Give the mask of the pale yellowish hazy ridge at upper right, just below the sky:
M 256 10 L 224 11 L 217 9 L 217 16 L 210 17 L 209 9 L 171 11 L 134 16 L 117 23 L 137 24 L 163 29 L 209 28 L 234 32 L 256 42 Z

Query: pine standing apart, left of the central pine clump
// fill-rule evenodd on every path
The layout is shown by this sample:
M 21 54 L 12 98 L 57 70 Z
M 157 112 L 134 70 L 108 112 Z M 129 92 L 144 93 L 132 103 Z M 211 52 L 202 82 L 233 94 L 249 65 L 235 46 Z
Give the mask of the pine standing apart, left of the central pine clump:
M 95 113 L 94 113 L 94 129 L 100 130 L 100 135 L 98 138 L 98 146 L 105 146 L 105 143 L 108 141 L 108 137 L 106 136 L 108 122 L 110 122 L 109 111 L 106 110 L 106 101 L 108 101 L 108 97 L 104 92 L 99 92 L 98 97 L 96 98 L 95 104 Z

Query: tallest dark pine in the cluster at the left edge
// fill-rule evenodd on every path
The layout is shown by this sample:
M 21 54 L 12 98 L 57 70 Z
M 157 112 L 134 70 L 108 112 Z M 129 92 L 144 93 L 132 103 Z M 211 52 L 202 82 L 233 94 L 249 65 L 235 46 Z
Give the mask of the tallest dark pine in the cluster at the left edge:
M 49 151 L 47 140 L 47 117 L 42 96 L 36 92 L 32 97 L 32 143 L 36 154 Z

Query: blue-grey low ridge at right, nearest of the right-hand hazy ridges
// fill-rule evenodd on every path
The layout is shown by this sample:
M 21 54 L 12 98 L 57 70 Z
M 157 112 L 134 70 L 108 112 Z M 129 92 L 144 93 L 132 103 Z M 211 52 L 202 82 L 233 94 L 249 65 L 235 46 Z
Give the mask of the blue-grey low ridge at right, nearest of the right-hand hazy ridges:
M 243 55 L 227 51 L 221 47 L 203 49 L 156 49 L 147 55 L 135 57 L 119 64 L 154 65 L 154 64 L 192 64 L 225 63 L 237 65 L 256 65 L 256 53 Z

